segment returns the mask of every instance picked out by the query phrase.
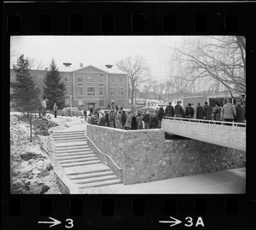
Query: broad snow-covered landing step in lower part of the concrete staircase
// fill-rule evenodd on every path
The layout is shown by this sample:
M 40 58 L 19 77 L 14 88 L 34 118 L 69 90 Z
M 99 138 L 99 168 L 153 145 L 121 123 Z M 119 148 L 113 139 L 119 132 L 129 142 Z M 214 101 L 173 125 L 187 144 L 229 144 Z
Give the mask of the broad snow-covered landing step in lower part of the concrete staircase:
M 69 168 L 65 169 L 66 175 L 85 175 L 88 173 L 94 173 L 94 172 L 106 172 L 111 171 L 111 169 L 105 165 L 105 164 L 92 164 L 92 165 L 86 165 L 84 166 L 77 166 L 75 168 Z

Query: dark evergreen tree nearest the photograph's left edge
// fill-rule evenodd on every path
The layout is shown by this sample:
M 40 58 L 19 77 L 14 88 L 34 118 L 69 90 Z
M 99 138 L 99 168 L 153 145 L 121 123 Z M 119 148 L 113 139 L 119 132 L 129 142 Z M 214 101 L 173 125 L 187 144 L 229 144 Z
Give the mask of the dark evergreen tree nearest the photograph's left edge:
M 38 110 L 40 89 L 36 88 L 30 75 L 30 61 L 24 55 L 20 55 L 13 68 L 16 81 L 10 83 L 10 100 L 20 112 Z

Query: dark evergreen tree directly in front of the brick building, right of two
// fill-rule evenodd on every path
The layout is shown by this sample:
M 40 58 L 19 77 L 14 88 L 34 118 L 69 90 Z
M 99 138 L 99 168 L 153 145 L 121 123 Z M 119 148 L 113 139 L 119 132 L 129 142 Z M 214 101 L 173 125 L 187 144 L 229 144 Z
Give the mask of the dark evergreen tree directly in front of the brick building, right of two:
M 67 88 L 65 83 L 60 83 L 61 75 L 55 64 L 55 60 L 52 59 L 49 63 L 49 70 L 46 72 L 44 83 L 44 99 L 48 99 L 48 108 L 53 109 L 54 103 L 59 109 L 65 107 L 65 95 Z

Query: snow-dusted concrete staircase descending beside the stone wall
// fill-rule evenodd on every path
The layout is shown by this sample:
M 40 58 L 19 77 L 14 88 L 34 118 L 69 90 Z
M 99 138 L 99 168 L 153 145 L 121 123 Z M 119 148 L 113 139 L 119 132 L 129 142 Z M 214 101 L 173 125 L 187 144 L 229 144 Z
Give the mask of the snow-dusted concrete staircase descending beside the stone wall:
M 81 130 L 55 131 L 55 159 L 61 164 L 67 177 L 78 187 L 104 187 L 121 181 L 113 171 L 102 164 L 87 145 Z

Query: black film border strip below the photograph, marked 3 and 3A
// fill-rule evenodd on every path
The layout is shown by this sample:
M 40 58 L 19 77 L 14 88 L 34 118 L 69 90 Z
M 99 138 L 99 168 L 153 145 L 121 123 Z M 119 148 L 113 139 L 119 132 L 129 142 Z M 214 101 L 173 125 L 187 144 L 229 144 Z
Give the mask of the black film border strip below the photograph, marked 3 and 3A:
M 255 202 L 230 196 L 188 198 L 188 196 L 77 196 L 55 198 L 12 198 L 3 216 L 9 229 L 49 227 L 73 229 L 112 227 L 127 229 L 136 227 L 169 228 L 213 227 L 252 228 L 255 227 Z M 43 223 L 45 224 L 43 226 Z M 72 227 L 71 227 L 72 226 Z

